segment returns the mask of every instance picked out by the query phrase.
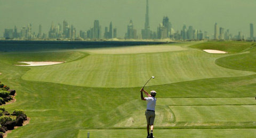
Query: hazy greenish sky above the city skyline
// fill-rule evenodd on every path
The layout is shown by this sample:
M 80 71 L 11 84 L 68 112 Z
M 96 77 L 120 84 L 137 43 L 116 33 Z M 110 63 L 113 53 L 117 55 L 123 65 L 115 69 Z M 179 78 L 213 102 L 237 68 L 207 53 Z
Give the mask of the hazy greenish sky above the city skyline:
M 249 37 L 249 24 L 256 28 L 255 5 L 255 0 L 149 0 L 149 24 L 156 31 L 163 17 L 168 16 L 175 31 L 181 30 L 183 24 L 187 29 L 192 25 L 208 31 L 211 38 L 217 22 L 233 35 L 242 31 Z M 145 14 L 146 0 L 0 0 L 0 37 L 5 28 L 17 25 L 20 31 L 29 23 L 36 34 L 39 24 L 48 33 L 52 22 L 63 26 L 63 20 L 73 24 L 77 34 L 93 27 L 94 20 L 100 21 L 103 34 L 112 21 L 117 36 L 124 37 L 130 20 L 137 34 L 141 33 Z

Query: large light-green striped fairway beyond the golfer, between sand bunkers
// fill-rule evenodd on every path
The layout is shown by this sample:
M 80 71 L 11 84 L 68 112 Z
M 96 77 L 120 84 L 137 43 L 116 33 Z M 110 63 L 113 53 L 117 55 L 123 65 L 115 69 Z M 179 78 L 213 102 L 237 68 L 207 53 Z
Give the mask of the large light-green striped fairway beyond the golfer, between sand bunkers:
M 148 85 L 255 74 L 220 67 L 215 64 L 218 57 L 221 56 L 198 50 L 124 55 L 94 54 L 75 62 L 31 67 L 22 79 L 85 87 L 127 88 L 141 87 L 151 76 L 156 79 Z

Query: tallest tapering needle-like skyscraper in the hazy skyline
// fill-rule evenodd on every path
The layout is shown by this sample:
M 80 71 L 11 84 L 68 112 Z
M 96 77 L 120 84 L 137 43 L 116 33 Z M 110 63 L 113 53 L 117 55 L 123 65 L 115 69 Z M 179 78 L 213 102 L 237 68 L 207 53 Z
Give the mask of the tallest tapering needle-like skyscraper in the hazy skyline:
M 151 31 L 149 27 L 149 3 L 147 0 L 146 4 L 146 21 L 145 21 L 145 28 L 141 30 L 142 39 L 150 39 Z

